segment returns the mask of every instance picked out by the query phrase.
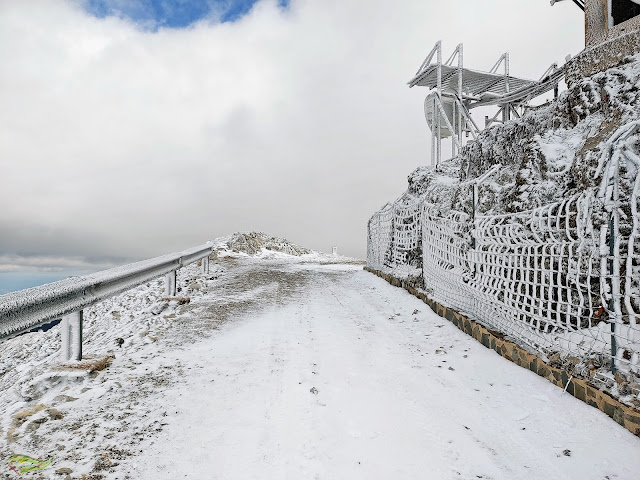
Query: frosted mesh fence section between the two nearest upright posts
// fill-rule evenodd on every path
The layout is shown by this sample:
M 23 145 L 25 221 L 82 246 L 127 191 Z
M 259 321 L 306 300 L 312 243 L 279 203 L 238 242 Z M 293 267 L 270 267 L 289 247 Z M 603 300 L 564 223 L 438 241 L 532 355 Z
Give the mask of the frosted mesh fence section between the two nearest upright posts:
M 479 216 L 470 313 L 538 350 L 605 351 L 608 339 L 593 328 L 608 316 L 592 206 L 591 195 L 579 195 L 530 212 Z

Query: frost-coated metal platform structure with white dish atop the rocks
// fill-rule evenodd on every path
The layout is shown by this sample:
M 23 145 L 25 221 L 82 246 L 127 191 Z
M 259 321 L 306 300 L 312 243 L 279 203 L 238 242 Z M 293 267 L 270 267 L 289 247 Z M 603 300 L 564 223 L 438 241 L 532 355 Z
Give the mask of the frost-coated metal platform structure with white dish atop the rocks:
M 434 57 L 435 62 L 432 62 Z M 454 65 L 456 59 L 457 65 Z M 471 109 L 498 107 L 493 118 L 485 117 L 484 128 L 506 122 L 512 114 L 519 118 L 518 108 L 524 110 L 531 99 L 551 90 L 557 96 L 558 83 L 563 76 L 563 69 L 554 63 L 538 81 L 513 77 L 509 73 L 508 53 L 504 53 L 488 72 L 465 68 L 462 44 L 443 63 L 442 43 L 437 42 L 408 82 L 410 88 L 421 86 L 430 90 L 424 112 L 431 130 L 432 164 L 440 163 L 443 138 L 451 137 L 451 154 L 455 157 L 463 146 L 463 136 L 472 135 L 475 139 L 480 133 L 481 129 L 469 113 Z

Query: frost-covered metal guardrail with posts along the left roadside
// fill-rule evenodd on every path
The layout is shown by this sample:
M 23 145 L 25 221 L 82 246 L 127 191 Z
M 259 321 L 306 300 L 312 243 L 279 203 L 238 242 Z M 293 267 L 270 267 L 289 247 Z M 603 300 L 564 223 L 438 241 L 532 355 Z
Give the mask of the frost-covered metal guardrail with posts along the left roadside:
M 0 338 L 62 318 L 62 358 L 80 360 L 83 309 L 162 275 L 165 294 L 175 296 L 177 270 L 202 260 L 202 271 L 208 273 L 213 247 L 208 242 L 182 252 L 0 295 Z

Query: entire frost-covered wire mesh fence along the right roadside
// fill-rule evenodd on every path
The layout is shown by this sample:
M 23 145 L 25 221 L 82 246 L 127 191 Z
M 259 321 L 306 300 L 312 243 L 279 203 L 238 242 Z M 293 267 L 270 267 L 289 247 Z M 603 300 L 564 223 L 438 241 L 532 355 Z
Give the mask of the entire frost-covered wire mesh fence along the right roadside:
M 368 265 L 543 356 L 638 374 L 639 130 L 612 137 L 599 186 L 530 211 L 468 215 L 410 196 L 387 204 L 369 220 Z

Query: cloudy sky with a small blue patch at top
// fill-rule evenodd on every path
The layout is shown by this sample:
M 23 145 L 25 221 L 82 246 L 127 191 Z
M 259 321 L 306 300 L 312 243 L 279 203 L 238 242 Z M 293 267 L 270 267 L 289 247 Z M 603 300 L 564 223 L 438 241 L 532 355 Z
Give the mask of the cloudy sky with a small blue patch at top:
M 362 258 L 429 162 L 433 44 L 538 78 L 583 29 L 548 0 L 0 0 L 0 272 L 243 230 Z

